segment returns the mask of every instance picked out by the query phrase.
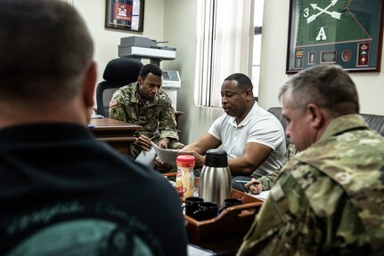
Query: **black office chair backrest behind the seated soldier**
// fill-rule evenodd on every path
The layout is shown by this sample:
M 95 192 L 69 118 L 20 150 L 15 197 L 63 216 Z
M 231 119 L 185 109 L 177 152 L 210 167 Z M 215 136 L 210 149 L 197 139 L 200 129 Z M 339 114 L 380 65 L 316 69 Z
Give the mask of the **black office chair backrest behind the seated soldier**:
M 128 58 L 118 58 L 108 62 L 102 75 L 105 81 L 97 84 L 96 87 L 97 114 L 109 116 L 113 92 L 121 86 L 137 81 L 142 67 L 142 62 Z

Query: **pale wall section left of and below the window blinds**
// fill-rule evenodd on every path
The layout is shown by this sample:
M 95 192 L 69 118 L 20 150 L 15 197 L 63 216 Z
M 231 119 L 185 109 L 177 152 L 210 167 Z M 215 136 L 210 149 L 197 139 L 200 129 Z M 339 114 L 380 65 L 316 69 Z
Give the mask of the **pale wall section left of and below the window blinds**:
M 196 56 L 196 0 L 164 1 L 164 37 L 169 46 L 176 47 L 176 60 L 163 61 L 166 69 L 180 73 L 182 87 L 177 93 L 180 140 L 186 144 L 198 140 L 210 124 L 224 113 L 221 108 L 200 108 L 193 105 Z

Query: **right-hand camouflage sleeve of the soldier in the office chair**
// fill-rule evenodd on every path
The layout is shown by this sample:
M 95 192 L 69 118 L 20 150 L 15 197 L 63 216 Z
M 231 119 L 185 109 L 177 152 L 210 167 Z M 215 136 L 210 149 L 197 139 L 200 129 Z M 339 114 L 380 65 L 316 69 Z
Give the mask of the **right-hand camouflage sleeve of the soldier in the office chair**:
M 159 108 L 161 108 L 159 116 L 159 135 L 162 138 L 171 138 L 178 140 L 176 130 L 175 109 L 172 106 L 172 101 L 167 96 L 166 92 L 159 93 Z

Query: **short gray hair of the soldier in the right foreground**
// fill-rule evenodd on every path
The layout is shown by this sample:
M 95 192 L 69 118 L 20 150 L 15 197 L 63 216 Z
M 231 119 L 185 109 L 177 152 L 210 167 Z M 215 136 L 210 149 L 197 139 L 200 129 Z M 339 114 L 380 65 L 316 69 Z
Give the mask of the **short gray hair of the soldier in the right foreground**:
M 339 65 L 318 65 L 292 76 L 282 86 L 279 99 L 290 96 L 293 108 L 306 108 L 315 103 L 331 116 L 359 113 L 359 100 L 354 82 Z

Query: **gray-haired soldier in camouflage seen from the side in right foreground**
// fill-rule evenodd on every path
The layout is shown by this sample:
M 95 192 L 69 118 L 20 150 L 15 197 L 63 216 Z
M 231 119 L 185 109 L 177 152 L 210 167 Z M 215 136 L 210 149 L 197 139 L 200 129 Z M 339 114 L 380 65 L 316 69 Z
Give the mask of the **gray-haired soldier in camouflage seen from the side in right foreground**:
M 238 255 L 384 255 L 384 138 L 358 115 L 355 84 L 315 66 L 280 92 L 284 165 Z

